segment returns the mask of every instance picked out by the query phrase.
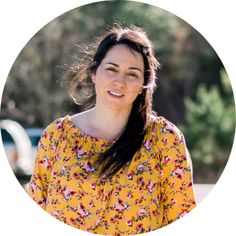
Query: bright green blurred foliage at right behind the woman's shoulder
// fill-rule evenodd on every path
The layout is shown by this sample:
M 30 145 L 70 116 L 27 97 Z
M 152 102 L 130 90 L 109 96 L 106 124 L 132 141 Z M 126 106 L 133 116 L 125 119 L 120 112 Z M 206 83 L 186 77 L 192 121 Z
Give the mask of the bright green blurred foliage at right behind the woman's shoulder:
M 230 83 L 221 73 L 225 91 Z M 197 181 L 215 182 L 226 165 L 235 132 L 234 102 L 222 99 L 219 89 L 200 85 L 196 99 L 185 99 L 186 118 L 182 130 L 193 160 Z M 206 180 L 207 179 L 207 180 Z

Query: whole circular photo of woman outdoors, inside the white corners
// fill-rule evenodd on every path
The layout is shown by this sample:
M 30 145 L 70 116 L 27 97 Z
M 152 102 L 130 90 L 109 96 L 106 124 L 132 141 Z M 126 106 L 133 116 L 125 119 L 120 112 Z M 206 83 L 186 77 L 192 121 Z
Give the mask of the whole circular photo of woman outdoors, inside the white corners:
M 100 235 L 158 230 L 211 191 L 235 133 L 217 53 L 161 8 L 103 1 L 40 29 L 8 75 L 1 136 L 35 203 Z

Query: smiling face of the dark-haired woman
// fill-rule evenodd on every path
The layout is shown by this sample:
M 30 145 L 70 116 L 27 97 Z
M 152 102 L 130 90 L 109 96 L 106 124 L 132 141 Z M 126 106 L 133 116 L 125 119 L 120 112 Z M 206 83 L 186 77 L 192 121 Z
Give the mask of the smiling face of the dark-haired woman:
M 144 83 L 142 55 L 128 46 L 113 46 L 92 75 L 96 90 L 96 106 L 127 111 Z

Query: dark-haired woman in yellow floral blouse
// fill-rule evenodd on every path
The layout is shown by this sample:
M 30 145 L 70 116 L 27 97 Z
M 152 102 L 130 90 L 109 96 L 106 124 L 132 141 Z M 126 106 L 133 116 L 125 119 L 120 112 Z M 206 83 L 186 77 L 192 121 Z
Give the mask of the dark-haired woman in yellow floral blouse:
M 195 207 L 191 160 L 182 133 L 152 111 L 159 63 L 146 33 L 114 27 L 87 61 L 71 91 L 91 79 L 96 104 L 46 128 L 29 194 L 57 219 L 92 233 L 170 224 Z

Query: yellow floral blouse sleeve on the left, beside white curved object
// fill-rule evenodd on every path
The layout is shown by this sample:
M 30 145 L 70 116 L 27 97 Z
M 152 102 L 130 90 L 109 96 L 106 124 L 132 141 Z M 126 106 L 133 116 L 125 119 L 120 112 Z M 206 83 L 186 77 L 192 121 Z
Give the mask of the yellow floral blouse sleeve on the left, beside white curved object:
M 56 160 L 55 151 L 59 143 L 61 127 L 62 122 L 58 119 L 44 130 L 38 143 L 34 171 L 29 183 L 29 195 L 44 209 L 52 166 Z

